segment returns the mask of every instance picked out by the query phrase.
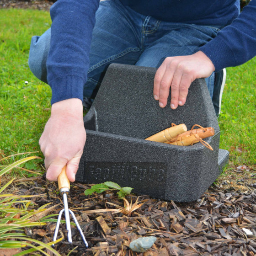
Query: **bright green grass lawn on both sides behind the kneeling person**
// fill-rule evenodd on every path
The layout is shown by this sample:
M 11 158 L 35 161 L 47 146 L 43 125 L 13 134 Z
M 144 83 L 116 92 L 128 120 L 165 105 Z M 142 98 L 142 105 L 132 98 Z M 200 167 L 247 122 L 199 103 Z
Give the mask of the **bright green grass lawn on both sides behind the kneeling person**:
M 1 9 L 0 17 L 0 152 L 12 155 L 38 151 L 33 155 L 43 157 L 38 140 L 50 116 L 51 89 L 32 75 L 27 59 L 31 37 L 50 27 L 50 15 L 45 11 Z M 230 152 L 228 169 L 237 165 L 256 168 L 255 95 L 256 58 L 227 69 L 219 126 L 220 148 Z M 43 170 L 42 162 L 37 160 L 25 167 Z

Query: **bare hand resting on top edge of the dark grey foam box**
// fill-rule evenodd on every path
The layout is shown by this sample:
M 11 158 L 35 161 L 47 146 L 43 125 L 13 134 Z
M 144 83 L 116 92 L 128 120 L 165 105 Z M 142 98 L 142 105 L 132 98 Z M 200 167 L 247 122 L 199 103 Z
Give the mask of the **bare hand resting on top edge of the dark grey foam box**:
M 165 107 L 171 87 L 171 108 L 183 106 L 188 88 L 197 78 L 210 76 L 215 67 L 203 52 L 188 56 L 167 57 L 155 73 L 154 98 Z

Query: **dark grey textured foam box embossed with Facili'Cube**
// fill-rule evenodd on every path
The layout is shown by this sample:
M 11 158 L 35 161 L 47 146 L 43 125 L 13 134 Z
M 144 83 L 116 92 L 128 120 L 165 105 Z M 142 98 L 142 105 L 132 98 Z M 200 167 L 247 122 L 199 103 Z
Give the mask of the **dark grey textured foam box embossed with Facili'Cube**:
M 111 64 L 84 122 L 87 133 L 76 179 L 87 183 L 114 181 L 134 192 L 179 202 L 193 201 L 213 183 L 228 161 L 219 149 L 219 125 L 204 79 L 190 86 L 187 102 L 162 109 L 153 98 L 156 69 Z M 144 140 L 185 123 L 213 127 L 201 143 L 176 146 Z

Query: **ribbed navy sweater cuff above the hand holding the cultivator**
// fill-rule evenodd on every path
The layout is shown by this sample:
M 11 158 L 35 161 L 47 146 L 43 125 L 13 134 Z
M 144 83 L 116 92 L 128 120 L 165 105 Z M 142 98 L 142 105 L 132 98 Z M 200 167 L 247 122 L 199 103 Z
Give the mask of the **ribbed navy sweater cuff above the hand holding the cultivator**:
M 49 81 L 52 88 L 51 104 L 71 98 L 83 101 L 84 80 L 77 75 L 64 75 Z

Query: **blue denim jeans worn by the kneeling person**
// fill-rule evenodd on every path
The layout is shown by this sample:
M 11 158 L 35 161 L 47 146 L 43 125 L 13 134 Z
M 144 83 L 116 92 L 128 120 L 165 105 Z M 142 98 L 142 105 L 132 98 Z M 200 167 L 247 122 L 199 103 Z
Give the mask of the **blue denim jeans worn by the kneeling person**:
M 158 68 L 168 56 L 189 55 L 214 38 L 217 27 L 172 23 L 144 16 L 119 0 L 101 1 L 92 34 L 90 68 L 84 97 L 94 98 L 111 63 Z M 32 37 L 29 67 L 47 83 L 50 29 Z M 206 79 L 213 96 L 214 73 Z M 153 89 L 153 88 L 152 88 Z

